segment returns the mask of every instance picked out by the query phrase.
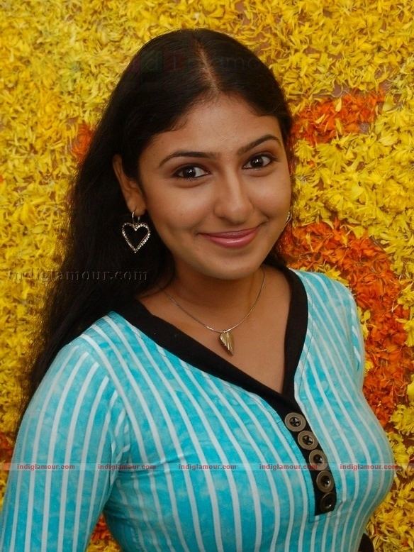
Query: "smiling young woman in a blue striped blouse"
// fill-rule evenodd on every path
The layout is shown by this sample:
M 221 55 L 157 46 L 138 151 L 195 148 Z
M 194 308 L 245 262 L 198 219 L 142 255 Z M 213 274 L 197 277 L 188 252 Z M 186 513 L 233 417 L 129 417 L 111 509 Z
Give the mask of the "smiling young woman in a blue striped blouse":
M 172 31 L 130 62 L 72 192 L 1 551 L 84 551 L 101 512 L 128 552 L 372 549 L 393 473 L 369 467 L 393 457 L 356 305 L 275 245 L 291 126 L 224 33 Z

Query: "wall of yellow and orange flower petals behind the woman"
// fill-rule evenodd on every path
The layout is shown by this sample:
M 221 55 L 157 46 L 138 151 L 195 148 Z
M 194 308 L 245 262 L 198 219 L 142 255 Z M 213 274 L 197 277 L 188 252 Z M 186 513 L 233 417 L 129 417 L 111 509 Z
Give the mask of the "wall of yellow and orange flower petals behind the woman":
M 1 3 L 0 500 L 16 375 L 45 289 L 38 274 L 56 268 L 69 178 L 130 57 L 155 35 L 206 26 L 252 48 L 286 91 L 297 200 L 281 245 L 292 267 L 354 292 L 364 393 L 399 466 L 368 530 L 376 551 L 413 550 L 413 10 L 412 0 Z M 102 517 L 89 550 L 118 550 Z

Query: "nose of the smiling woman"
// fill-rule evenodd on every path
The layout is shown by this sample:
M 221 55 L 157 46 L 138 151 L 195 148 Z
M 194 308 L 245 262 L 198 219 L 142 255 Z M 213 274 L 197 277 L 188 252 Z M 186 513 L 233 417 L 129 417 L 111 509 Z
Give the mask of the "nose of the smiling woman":
M 214 213 L 216 216 L 240 224 L 249 219 L 253 209 L 246 182 L 240 175 L 223 175 L 216 186 Z

